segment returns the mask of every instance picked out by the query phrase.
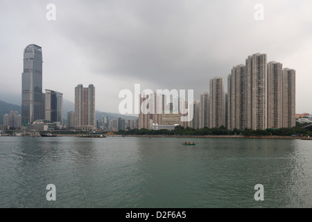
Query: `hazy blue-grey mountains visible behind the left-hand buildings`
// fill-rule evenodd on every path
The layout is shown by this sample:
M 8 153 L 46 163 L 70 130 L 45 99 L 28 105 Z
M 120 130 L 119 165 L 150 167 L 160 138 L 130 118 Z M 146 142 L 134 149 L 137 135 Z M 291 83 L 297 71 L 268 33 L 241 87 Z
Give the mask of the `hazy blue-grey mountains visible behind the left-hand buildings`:
M 3 124 L 3 115 L 6 113 L 10 113 L 10 111 L 17 111 L 19 114 L 21 114 L 21 105 L 14 105 L 11 103 L 6 103 L 3 101 L 0 101 L 0 125 Z M 73 102 L 63 99 L 63 119 L 64 123 L 67 123 L 67 112 L 74 111 L 75 105 Z M 101 112 L 96 110 L 96 119 L 103 119 L 103 116 L 108 117 L 108 119 L 118 119 L 119 117 L 128 120 L 128 119 L 137 119 L 137 117 L 134 116 L 126 116 L 118 113 L 112 113 L 112 112 Z

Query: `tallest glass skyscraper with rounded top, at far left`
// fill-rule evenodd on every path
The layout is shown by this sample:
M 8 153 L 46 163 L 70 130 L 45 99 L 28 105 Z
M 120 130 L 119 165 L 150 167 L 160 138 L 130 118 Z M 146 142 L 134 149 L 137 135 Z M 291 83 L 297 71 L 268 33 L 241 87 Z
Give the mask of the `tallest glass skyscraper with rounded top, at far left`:
M 42 49 L 29 44 L 24 49 L 24 72 L 21 74 L 21 121 L 33 123 L 44 119 L 42 94 Z

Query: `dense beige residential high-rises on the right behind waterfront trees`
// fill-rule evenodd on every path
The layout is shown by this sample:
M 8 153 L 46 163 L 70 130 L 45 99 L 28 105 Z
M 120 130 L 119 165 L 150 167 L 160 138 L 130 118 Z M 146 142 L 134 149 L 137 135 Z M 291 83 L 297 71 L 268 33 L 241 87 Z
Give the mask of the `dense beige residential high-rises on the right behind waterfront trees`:
M 153 94 L 157 101 L 157 95 Z M 159 96 L 159 95 L 158 95 Z M 140 105 L 148 96 L 140 96 Z M 159 105 L 159 104 L 158 104 Z M 164 105 L 164 104 L 162 104 Z M 190 128 L 230 130 L 250 128 L 289 128 L 295 126 L 295 70 L 280 62 L 267 62 L 266 54 L 248 56 L 245 65 L 236 65 L 227 77 L 227 92 L 223 78 L 212 78 L 209 91 L 193 102 L 193 119 L 179 121 L 180 112 L 169 114 L 139 114 L 139 128 L 155 125 L 180 125 Z M 170 119 L 171 121 L 166 121 Z

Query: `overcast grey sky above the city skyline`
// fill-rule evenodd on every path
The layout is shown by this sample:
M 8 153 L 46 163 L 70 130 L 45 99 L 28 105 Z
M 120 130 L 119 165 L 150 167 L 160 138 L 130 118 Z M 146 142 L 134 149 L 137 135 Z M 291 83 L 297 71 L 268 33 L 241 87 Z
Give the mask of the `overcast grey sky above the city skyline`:
M 46 5 L 56 20 L 46 19 Z M 256 3 L 264 20 L 256 21 Z M 118 112 L 121 89 L 208 90 L 253 53 L 296 70 L 296 112 L 312 113 L 312 1 L 14 1 L 0 6 L 0 94 L 21 95 L 23 51 L 42 46 L 43 89 L 74 101 L 96 87 L 96 110 Z M 9 98 L 9 97 L 8 97 Z

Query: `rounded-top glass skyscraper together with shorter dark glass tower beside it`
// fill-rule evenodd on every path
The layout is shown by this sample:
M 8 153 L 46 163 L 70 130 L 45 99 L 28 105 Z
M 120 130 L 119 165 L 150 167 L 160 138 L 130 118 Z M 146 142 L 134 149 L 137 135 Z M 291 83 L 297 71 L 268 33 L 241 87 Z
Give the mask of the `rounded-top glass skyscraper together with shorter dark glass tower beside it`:
M 21 74 L 21 125 L 46 120 L 62 123 L 61 92 L 42 92 L 42 48 L 29 44 L 24 49 L 24 71 Z M 59 124 L 62 125 L 62 124 Z

